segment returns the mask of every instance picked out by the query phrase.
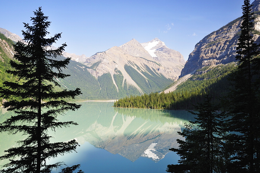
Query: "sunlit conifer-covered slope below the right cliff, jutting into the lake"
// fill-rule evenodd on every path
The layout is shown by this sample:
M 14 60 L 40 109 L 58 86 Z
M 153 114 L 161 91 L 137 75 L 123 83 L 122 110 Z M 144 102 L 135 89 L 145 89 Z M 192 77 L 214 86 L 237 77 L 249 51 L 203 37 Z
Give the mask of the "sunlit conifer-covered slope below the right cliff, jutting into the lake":
M 229 91 L 228 76 L 237 69 L 235 62 L 215 67 L 204 67 L 188 80 L 178 85 L 169 93 L 150 93 L 119 99 L 116 107 L 152 108 L 152 109 L 193 109 L 193 105 L 204 100 L 205 94 L 212 94 L 212 101 L 219 103 L 219 98 Z

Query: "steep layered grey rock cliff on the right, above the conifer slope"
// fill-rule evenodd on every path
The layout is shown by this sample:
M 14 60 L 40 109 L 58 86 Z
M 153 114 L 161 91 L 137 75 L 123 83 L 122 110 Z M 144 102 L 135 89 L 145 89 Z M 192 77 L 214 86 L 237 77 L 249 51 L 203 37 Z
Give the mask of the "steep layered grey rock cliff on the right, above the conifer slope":
M 254 1 L 252 11 L 255 12 L 255 30 L 260 31 L 260 0 Z M 180 78 L 191 74 L 205 66 L 216 66 L 236 61 L 236 47 L 240 35 L 242 19 L 239 17 L 217 31 L 213 31 L 196 44 L 195 49 L 189 55 Z M 259 43 L 259 35 L 254 34 L 256 43 Z

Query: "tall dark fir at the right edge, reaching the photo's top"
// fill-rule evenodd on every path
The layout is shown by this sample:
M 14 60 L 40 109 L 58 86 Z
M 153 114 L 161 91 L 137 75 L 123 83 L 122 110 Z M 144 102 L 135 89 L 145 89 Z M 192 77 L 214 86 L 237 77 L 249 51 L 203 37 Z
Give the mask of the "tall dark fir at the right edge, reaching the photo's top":
M 238 39 L 236 59 L 239 60 L 238 71 L 233 73 L 231 81 L 234 89 L 229 94 L 227 110 L 230 131 L 235 132 L 233 172 L 260 172 L 259 124 L 259 45 L 254 43 L 254 16 L 250 1 L 244 0 L 241 35 Z

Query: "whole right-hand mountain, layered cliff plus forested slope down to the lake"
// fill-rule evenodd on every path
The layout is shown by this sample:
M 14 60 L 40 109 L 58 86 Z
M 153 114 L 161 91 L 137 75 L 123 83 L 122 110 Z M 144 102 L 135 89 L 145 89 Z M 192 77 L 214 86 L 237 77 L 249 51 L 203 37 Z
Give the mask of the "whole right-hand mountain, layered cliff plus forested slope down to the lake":
M 252 4 L 254 40 L 260 44 L 260 0 Z M 203 102 L 207 92 L 212 94 L 212 102 L 219 104 L 219 98 L 230 92 L 228 78 L 238 67 L 236 47 L 241 22 L 239 17 L 200 40 L 189 55 L 179 79 L 164 92 L 119 99 L 114 106 L 192 110 L 192 105 Z

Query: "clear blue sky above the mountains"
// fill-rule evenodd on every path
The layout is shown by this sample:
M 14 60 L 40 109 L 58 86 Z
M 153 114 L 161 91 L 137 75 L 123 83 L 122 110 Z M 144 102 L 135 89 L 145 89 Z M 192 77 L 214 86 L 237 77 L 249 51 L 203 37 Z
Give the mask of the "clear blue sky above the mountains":
M 22 36 L 33 11 L 51 21 L 50 36 L 62 32 L 55 47 L 66 42 L 68 53 L 86 56 L 155 37 L 187 60 L 207 34 L 242 16 L 243 0 L 1 0 L 0 28 Z M 251 0 L 251 2 L 253 2 Z

